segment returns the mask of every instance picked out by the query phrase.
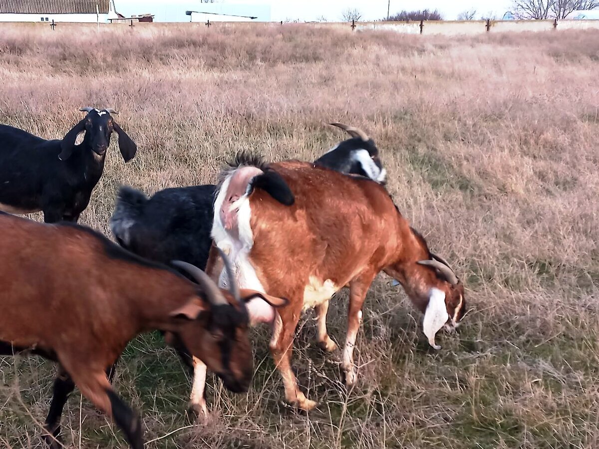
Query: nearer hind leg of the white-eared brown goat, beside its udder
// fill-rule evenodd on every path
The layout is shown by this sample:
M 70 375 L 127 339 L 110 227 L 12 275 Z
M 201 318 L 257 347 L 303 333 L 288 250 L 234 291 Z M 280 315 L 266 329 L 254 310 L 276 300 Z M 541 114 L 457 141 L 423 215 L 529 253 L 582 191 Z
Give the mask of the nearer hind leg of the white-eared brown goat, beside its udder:
M 294 298 L 294 296 L 291 296 L 291 298 Z M 295 299 L 298 298 L 299 301 L 293 302 L 291 300 L 291 304 L 279 309 L 278 313 L 275 314 L 270 350 L 273 354 L 274 363 L 283 378 L 287 402 L 297 405 L 301 409 L 311 410 L 316 406 L 316 402 L 310 401 L 304 393 L 299 391 L 297 379 L 291 369 L 295 327 L 297 327 L 299 321 L 302 305 L 301 296 L 296 295 Z

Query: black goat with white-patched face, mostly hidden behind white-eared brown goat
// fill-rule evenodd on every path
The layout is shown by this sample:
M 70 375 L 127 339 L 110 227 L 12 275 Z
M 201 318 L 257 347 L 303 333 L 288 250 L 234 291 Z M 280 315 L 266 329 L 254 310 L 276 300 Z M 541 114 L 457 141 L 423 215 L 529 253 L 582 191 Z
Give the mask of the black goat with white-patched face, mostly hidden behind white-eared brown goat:
M 352 135 L 314 161 L 347 174 L 381 182 L 385 169 L 372 139 L 357 128 L 333 123 Z M 364 154 L 368 156 L 364 157 Z M 110 220 L 117 242 L 129 251 L 157 262 L 183 260 L 205 269 L 210 250 L 216 186 L 174 187 L 148 198 L 122 187 Z

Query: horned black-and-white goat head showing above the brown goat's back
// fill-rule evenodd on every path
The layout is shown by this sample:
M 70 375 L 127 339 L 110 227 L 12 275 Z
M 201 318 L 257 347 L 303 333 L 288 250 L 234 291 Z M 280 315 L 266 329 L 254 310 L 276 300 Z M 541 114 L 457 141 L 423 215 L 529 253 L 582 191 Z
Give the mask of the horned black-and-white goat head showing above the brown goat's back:
M 331 123 L 347 131 L 351 139 L 344 140 L 314 161 L 315 165 L 341 173 L 362 175 L 379 184 L 385 184 L 386 170 L 379 158 L 379 148 L 373 139 L 359 128 Z

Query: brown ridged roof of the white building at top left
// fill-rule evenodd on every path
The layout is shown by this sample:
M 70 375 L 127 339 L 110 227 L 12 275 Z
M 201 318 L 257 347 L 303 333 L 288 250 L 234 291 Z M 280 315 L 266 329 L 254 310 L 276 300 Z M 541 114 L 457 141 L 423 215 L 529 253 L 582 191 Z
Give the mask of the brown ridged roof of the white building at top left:
M 110 0 L 0 0 L 0 14 L 107 14 Z

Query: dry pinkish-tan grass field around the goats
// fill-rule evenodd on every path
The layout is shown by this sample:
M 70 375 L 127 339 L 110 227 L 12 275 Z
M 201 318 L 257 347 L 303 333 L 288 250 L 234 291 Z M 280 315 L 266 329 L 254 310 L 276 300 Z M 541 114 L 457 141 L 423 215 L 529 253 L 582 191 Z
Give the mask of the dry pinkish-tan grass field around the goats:
M 186 414 L 190 379 L 174 351 L 141 336 L 115 385 L 141 411 L 147 447 L 596 448 L 598 73 L 591 31 L 2 26 L 0 122 L 60 138 L 79 107 L 120 112 L 137 157 L 125 165 L 113 138 L 80 220 L 107 235 L 120 184 L 153 193 L 211 183 L 238 150 L 313 160 L 345 138 L 326 123 L 359 126 L 382 151 L 400 211 L 465 281 L 471 311 L 434 351 L 419 313 L 380 275 L 350 390 L 339 354 L 313 344 L 307 314 L 294 363 L 320 401 L 309 415 L 283 403 L 266 329 L 253 331 L 249 394 L 209 375 L 205 423 Z M 329 309 L 337 341 L 346 295 Z M 53 374 L 34 357 L 0 358 L 0 447 L 40 447 Z M 77 391 L 63 435 L 73 448 L 126 447 Z

